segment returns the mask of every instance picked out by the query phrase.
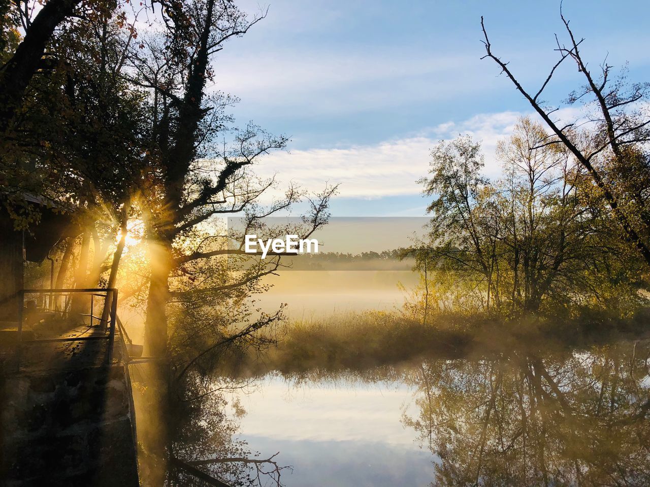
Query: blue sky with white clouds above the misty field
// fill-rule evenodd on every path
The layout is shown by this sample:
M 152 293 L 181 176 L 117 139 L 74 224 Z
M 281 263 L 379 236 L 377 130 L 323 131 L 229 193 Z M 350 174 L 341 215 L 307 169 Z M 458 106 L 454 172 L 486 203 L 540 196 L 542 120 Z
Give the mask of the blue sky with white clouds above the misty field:
M 482 140 L 494 151 L 532 109 L 498 66 L 481 60 L 480 18 L 493 51 L 536 91 L 567 40 L 559 1 L 243 1 L 268 15 L 216 58 L 216 86 L 240 98 L 233 113 L 291 137 L 255 172 L 317 191 L 341 183 L 333 216 L 422 216 L 417 179 L 441 139 Z M 607 56 L 629 79 L 650 79 L 650 2 L 565 0 L 565 16 L 591 69 Z M 566 63 L 545 91 L 556 105 L 582 85 Z

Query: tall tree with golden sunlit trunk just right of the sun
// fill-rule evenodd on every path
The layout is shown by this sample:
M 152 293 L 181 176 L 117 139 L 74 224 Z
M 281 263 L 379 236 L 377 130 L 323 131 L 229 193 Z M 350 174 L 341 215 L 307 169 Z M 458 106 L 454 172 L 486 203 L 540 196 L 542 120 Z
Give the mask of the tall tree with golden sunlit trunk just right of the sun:
M 211 240 L 202 232 L 216 216 L 237 214 L 253 203 L 274 181 L 255 181 L 244 169 L 272 149 L 285 147 L 284 136 L 272 136 L 248 124 L 232 132 L 227 108 L 233 99 L 207 94 L 213 79 L 214 55 L 231 38 L 244 35 L 265 17 L 249 18 L 225 0 L 191 0 L 160 3 L 164 38 L 143 40 L 131 49 L 133 82 L 151 90 L 151 142 L 149 157 L 159 168 L 153 174 L 148 195 L 156 197 L 145 209 L 149 251 L 152 253 L 149 282 L 146 343 L 152 355 L 165 356 L 168 337 L 166 304 L 170 299 L 170 276 L 190 262 L 225 255 L 226 248 L 201 251 L 201 242 Z M 233 133 L 231 145 L 219 140 L 226 130 Z M 326 199 L 331 192 L 326 191 Z M 253 217 L 285 210 L 303 196 L 290 187 L 284 197 Z M 324 203 L 324 201 L 323 201 Z M 322 216 L 322 214 L 321 214 Z M 315 219 L 322 225 L 322 219 Z M 179 242 L 196 239 L 196 251 L 181 249 Z M 212 238 L 210 242 L 216 245 Z M 269 262 L 257 277 L 277 267 Z M 240 284 L 253 280 L 249 276 Z M 225 286 L 234 288 L 236 283 Z M 218 288 L 219 286 L 216 286 Z M 215 289 L 215 292 L 218 289 Z

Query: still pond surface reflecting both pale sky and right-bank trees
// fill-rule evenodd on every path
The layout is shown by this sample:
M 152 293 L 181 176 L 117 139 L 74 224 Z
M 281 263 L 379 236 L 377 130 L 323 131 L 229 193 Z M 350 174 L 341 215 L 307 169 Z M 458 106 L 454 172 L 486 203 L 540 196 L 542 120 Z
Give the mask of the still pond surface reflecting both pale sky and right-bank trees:
M 647 356 L 639 342 L 270 373 L 237 395 L 241 438 L 280 452 L 287 486 L 647 486 Z

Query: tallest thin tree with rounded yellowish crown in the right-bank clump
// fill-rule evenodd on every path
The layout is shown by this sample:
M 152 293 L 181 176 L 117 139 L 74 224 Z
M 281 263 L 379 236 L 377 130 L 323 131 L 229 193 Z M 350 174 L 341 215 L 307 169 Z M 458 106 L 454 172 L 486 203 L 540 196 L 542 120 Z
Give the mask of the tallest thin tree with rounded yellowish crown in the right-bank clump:
M 544 296 L 560 302 L 563 292 L 577 286 L 573 260 L 586 255 L 593 223 L 580 203 L 580 171 L 566 151 L 543 145 L 548 138 L 539 123 L 523 118 L 497 148 L 506 173 L 501 184 L 508 234 L 502 242 L 512 255 L 512 305 L 521 302 L 530 311 L 539 309 Z

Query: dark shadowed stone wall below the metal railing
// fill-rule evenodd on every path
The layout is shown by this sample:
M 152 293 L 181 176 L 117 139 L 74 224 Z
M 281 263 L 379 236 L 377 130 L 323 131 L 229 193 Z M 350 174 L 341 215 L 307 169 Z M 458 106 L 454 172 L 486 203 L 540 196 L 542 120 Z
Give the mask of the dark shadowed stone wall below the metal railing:
M 138 486 L 135 417 L 123 365 L 4 372 L 3 485 Z

